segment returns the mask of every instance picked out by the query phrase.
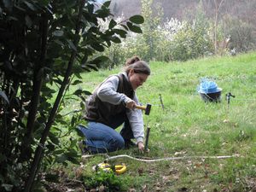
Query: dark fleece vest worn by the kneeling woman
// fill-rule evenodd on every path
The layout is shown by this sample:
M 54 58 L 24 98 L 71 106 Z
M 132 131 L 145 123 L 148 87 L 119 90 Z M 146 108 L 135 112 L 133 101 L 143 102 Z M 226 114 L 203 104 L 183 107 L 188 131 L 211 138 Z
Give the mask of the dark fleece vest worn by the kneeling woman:
M 117 92 L 124 93 L 125 96 L 133 99 L 135 93 L 134 90 L 132 90 L 131 83 L 125 78 L 125 75 L 122 73 L 119 73 L 116 76 L 119 78 Z M 119 105 L 113 105 L 109 102 L 102 102 L 96 95 L 97 90 L 100 86 L 101 84 L 96 88 L 96 90 L 94 90 L 92 96 L 90 96 L 89 98 L 89 101 L 86 102 L 87 113 L 85 115 L 85 119 L 90 121 L 96 121 L 105 125 L 110 125 L 110 122 L 113 121 L 117 114 L 124 113 L 125 115 L 125 110 L 127 108 L 125 108 L 125 105 L 122 102 Z

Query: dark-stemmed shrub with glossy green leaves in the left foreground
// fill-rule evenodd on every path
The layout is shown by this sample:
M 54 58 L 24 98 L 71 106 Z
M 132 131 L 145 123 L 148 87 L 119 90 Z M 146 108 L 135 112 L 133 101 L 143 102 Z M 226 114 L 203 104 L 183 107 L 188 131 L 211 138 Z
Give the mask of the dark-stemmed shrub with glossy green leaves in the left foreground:
M 0 190 L 31 191 L 55 162 L 79 163 L 75 127 L 82 113 L 63 112 L 80 73 L 96 70 L 127 32 L 141 32 L 140 15 L 106 29 L 110 1 L 5 0 L 0 3 Z M 86 90 L 74 90 L 84 108 Z M 71 97 L 69 96 L 69 99 Z M 73 97 L 74 98 L 74 97 Z M 79 99 L 78 97 L 76 99 Z M 68 112 L 69 113 L 69 112 Z M 62 138 L 65 138 L 62 141 Z M 42 161 L 43 160 L 43 161 Z M 37 177 L 38 176 L 38 177 Z

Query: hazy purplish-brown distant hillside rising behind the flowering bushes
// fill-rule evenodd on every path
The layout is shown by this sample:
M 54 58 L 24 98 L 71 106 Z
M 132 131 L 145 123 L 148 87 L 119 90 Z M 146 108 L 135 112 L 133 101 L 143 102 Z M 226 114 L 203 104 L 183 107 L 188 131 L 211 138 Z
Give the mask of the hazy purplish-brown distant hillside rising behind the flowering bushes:
M 215 14 L 214 1 L 208 0 L 154 0 L 153 6 L 160 3 L 164 10 L 164 18 L 183 19 L 189 13 L 195 13 L 196 6 L 203 3 L 203 9 L 208 17 Z M 220 2 L 220 1 L 218 1 Z M 111 8 L 113 15 L 124 15 L 129 17 L 141 13 L 141 0 L 112 0 Z M 224 0 L 219 9 L 220 15 L 233 15 L 241 18 L 241 20 L 249 20 L 256 26 L 256 0 Z

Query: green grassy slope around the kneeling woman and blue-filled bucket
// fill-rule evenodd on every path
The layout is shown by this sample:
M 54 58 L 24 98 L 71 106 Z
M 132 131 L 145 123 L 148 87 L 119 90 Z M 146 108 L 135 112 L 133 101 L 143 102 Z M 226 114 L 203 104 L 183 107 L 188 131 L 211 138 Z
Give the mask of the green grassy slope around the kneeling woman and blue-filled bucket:
M 211 57 L 186 62 L 150 62 L 152 75 L 137 90 L 140 102 L 152 103 L 145 125 L 151 127 L 149 154 L 171 156 L 233 155 L 224 160 L 191 159 L 143 163 L 119 159 L 128 170 L 119 178 L 125 189 L 148 191 L 248 191 L 256 189 L 256 53 Z M 84 90 L 94 90 L 113 71 L 83 74 Z M 212 78 L 222 91 L 222 102 L 205 103 L 196 92 L 201 78 Z M 230 106 L 225 94 L 231 92 Z M 160 107 L 162 96 L 165 109 Z M 73 108 L 76 104 L 73 104 Z M 79 105 L 79 104 L 78 104 Z M 145 127 L 146 129 L 146 127 Z M 138 154 L 137 149 L 109 155 Z M 91 158 L 85 165 L 104 160 Z M 86 171 L 87 169 L 87 171 Z M 86 166 L 84 174 L 90 172 Z M 138 171 L 139 170 L 139 171 Z

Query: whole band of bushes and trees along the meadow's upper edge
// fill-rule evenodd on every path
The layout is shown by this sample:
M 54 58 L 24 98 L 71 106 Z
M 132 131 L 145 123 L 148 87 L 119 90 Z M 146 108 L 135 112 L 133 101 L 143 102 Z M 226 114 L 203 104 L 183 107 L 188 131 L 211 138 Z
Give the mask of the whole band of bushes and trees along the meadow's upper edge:
M 255 0 L 123 0 L 113 1 L 112 6 L 116 5 L 119 13 L 119 6 L 126 5 L 133 13 L 129 7 L 136 2 L 145 19 L 143 34 L 131 34 L 105 52 L 113 66 L 131 55 L 140 55 L 146 61 L 186 61 L 209 55 L 236 55 L 256 48 L 256 22 L 252 19 Z M 177 17 L 166 19 L 165 9 L 177 5 L 181 5 L 175 10 Z

